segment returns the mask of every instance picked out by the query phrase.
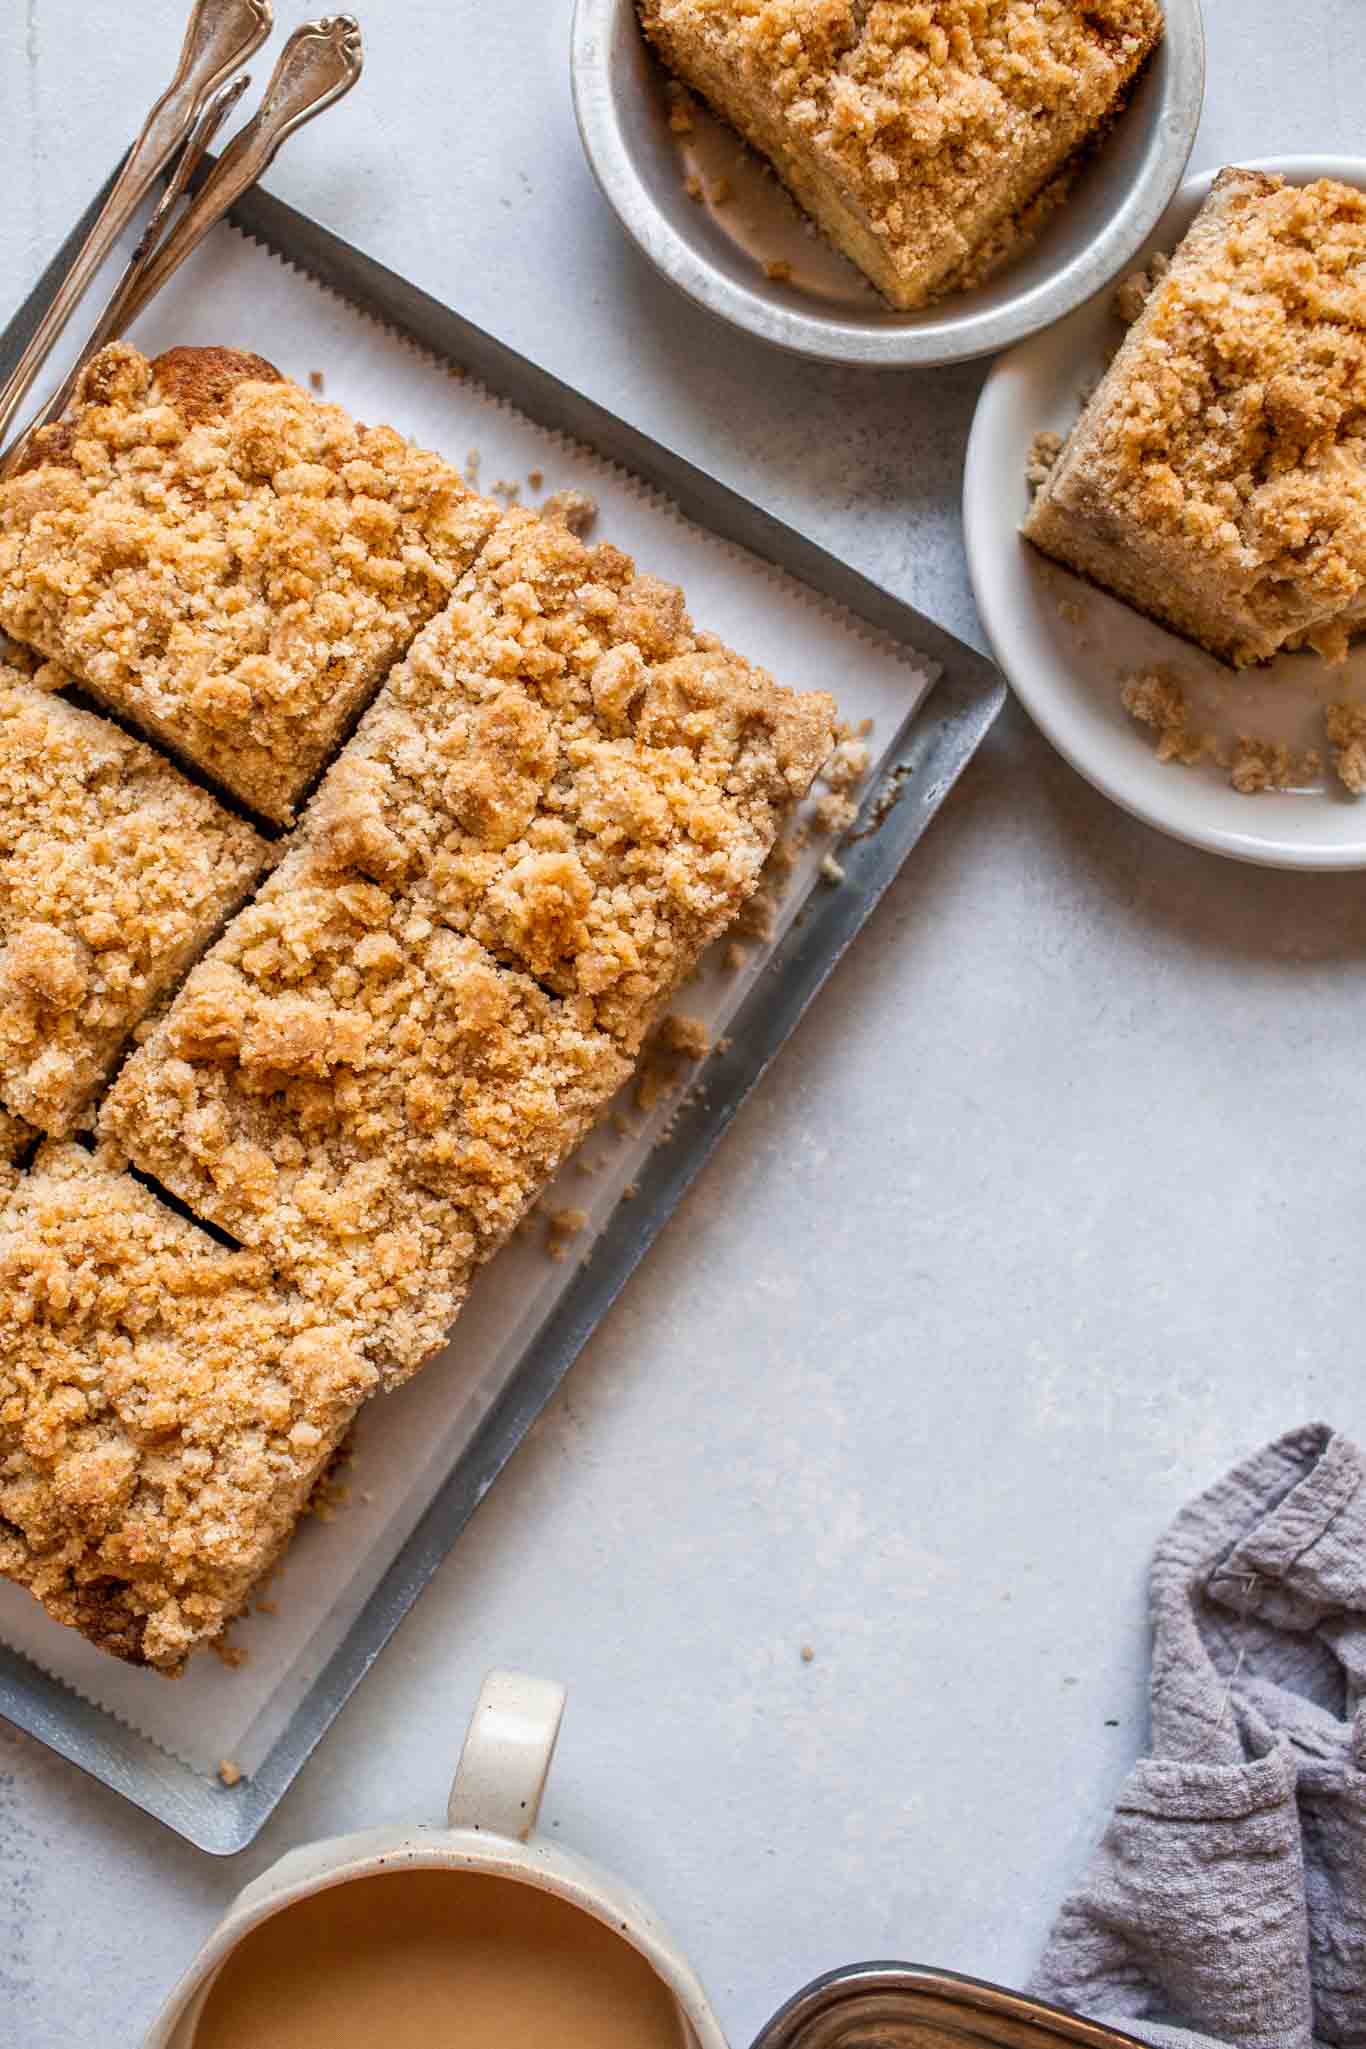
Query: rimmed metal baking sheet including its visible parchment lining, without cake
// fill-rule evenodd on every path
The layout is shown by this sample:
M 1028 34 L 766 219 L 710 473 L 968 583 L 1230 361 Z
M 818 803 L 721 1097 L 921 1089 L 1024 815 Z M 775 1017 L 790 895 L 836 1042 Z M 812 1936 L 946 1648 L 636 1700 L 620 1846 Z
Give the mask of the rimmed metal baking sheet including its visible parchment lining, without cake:
M 516 486 L 532 504 L 586 490 L 600 506 L 594 531 L 682 582 L 700 623 L 782 680 L 831 688 L 846 719 L 870 721 L 874 766 L 838 867 L 809 820 L 772 930 L 743 940 L 743 961 L 717 949 L 682 992 L 676 1008 L 705 1022 L 713 1051 L 678 1061 L 653 1102 L 627 1092 L 483 1270 L 446 1352 L 365 1412 L 348 1498 L 301 1531 L 270 1588 L 274 1613 L 233 1629 L 240 1666 L 201 1656 L 168 1684 L 0 1586 L 0 1713 L 219 1854 L 260 1830 L 1001 703 L 981 656 L 315 223 L 254 195 L 242 227 L 262 240 L 215 234 L 139 322 L 141 346 L 250 346 L 461 467 L 473 455 L 485 490 Z M 0 340 L 0 365 L 23 346 L 31 309 Z M 582 1213 L 578 1229 L 565 1213 Z M 244 1774 L 233 1787 L 217 1776 L 223 1758 Z

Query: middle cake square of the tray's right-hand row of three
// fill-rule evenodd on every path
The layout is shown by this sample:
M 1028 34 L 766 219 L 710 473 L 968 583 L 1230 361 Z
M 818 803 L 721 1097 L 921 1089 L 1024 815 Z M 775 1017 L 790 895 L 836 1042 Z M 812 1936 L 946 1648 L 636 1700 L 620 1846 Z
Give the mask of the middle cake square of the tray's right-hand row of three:
M 125 1063 L 100 1131 L 399 1379 L 629 1072 L 588 1002 L 299 848 Z

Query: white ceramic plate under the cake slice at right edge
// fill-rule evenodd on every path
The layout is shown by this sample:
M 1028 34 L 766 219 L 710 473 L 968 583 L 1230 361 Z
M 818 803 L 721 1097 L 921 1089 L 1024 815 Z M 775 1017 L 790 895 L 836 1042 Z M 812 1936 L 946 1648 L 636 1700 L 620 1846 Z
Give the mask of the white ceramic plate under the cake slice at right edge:
M 1262 158 L 1292 184 L 1341 178 L 1366 191 L 1366 158 Z M 1182 186 L 1139 262 L 1171 250 L 1202 205 L 1214 172 Z M 1073 768 L 1135 818 L 1192 846 L 1278 869 L 1366 867 L 1366 799 L 1331 770 L 1294 791 L 1239 795 L 1214 762 L 1159 762 L 1153 736 L 1120 703 L 1124 676 L 1165 666 L 1186 688 L 1200 729 L 1286 740 L 1296 752 L 1323 742 L 1323 705 L 1366 703 L 1366 643 L 1329 668 L 1313 654 L 1280 656 L 1235 674 L 1165 627 L 1069 576 L 1020 539 L 1034 434 L 1067 434 L 1083 393 L 1114 354 L 1122 326 L 1112 293 L 1092 299 L 1047 334 L 1004 357 L 981 393 L 963 479 L 963 527 L 977 609 L 997 662 L 1036 725 Z

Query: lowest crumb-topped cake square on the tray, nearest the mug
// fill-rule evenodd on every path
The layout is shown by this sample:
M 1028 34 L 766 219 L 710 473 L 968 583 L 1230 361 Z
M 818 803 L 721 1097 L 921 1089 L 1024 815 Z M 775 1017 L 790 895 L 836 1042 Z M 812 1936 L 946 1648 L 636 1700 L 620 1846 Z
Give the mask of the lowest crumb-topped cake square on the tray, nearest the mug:
M 274 1563 L 375 1371 L 131 1176 L 49 1143 L 0 1203 L 0 1572 L 176 1670 Z

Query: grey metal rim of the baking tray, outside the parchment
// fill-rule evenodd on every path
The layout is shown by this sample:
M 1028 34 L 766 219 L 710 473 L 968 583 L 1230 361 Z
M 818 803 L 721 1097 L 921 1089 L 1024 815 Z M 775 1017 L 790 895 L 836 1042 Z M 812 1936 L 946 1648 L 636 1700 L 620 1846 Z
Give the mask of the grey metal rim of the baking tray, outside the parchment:
M 0 334 L 0 377 L 18 359 L 102 197 L 100 193 L 92 201 L 88 215 L 72 229 Z M 739 498 L 674 449 L 637 432 L 494 334 L 385 270 L 317 221 L 264 191 L 248 195 L 231 219 L 352 305 L 412 336 L 438 359 L 473 371 L 496 395 L 539 424 L 575 436 L 655 486 L 698 527 L 750 549 L 891 639 L 938 662 L 940 680 L 905 721 L 864 793 L 860 820 L 840 850 L 842 887 L 815 891 L 774 949 L 735 1016 L 729 1043 L 709 1057 L 705 1090 L 682 1102 L 672 1143 L 651 1154 L 639 1178 L 637 1201 L 616 1207 L 594 1242 L 592 1260 L 578 1270 L 526 1346 L 430 1508 L 250 1781 L 225 1795 L 217 1781 L 190 1770 L 18 1651 L 0 1645 L 0 1715 L 217 1856 L 246 1848 L 274 1811 L 920 840 L 1006 697 L 995 668 L 932 619 Z

